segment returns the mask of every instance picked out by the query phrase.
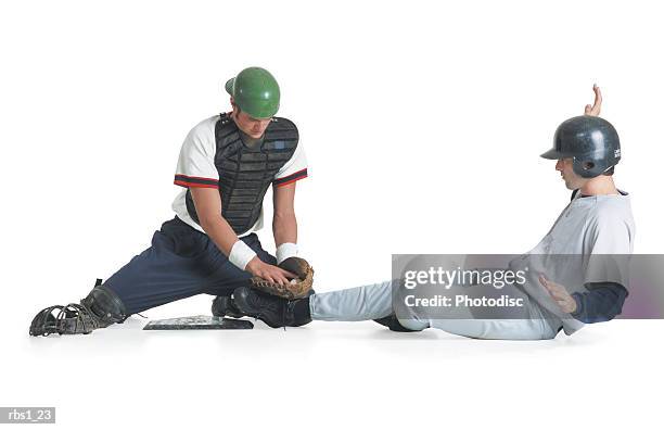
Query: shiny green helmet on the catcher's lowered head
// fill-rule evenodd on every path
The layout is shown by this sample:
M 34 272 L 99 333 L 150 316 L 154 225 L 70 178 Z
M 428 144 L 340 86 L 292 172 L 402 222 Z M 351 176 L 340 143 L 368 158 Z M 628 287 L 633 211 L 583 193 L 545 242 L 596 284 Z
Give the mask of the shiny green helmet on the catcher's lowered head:
M 269 118 L 279 111 L 279 84 L 261 67 L 247 67 L 226 83 L 238 108 L 254 118 Z

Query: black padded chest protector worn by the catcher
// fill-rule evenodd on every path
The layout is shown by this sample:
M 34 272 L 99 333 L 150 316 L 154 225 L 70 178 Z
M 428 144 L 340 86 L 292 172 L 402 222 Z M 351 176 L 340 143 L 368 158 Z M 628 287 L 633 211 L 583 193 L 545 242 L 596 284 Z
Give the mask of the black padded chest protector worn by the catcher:
M 248 148 L 235 123 L 224 113 L 215 126 L 215 139 L 221 216 L 237 235 L 242 235 L 258 220 L 263 198 L 277 172 L 293 156 L 299 135 L 295 124 L 274 117 L 265 130 L 263 144 Z M 190 190 L 186 201 L 189 215 L 199 223 Z

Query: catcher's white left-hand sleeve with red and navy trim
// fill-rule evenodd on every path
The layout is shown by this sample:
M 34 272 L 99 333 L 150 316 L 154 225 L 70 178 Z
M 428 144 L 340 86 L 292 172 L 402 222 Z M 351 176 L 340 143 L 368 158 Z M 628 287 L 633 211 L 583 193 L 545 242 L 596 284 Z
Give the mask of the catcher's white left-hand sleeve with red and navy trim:
M 174 184 L 184 188 L 219 188 L 214 131 L 205 124 L 194 127 L 184 138 Z

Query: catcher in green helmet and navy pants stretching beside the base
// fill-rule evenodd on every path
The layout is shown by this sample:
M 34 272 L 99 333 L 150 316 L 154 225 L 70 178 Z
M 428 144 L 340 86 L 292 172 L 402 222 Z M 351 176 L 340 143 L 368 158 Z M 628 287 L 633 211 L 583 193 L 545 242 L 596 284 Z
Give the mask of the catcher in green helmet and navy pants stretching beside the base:
M 187 136 L 175 185 L 176 216 L 152 245 L 80 301 L 41 311 L 30 334 L 78 334 L 123 322 L 128 316 L 192 295 L 217 295 L 215 315 L 239 315 L 233 290 L 253 282 L 289 299 L 306 295 L 312 270 L 297 257 L 295 184 L 307 162 L 295 124 L 276 117 L 279 85 L 260 67 L 226 83 L 231 111 L 197 124 Z M 273 188 L 276 257 L 256 236 L 263 200 Z M 302 278 L 302 281 L 295 278 Z M 253 280 L 252 280 L 253 279 Z

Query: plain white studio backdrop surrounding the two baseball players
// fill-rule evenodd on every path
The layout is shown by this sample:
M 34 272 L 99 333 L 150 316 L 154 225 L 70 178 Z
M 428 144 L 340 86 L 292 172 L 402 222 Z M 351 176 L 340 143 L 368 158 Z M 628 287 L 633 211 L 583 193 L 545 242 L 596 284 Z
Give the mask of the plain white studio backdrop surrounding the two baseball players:
M 506 423 L 513 414 L 514 427 L 542 414 L 560 417 L 551 426 L 598 422 L 578 405 L 618 402 L 642 412 L 631 395 L 646 390 L 635 380 L 662 380 L 652 374 L 663 356 L 661 321 L 613 321 L 548 345 L 438 333 L 376 338 L 366 334 L 378 330 L 370 324 L 314 324 L 290 336 L 260 329 L 251 336 L 261 346 L 246 333 L 137 341 L 145 337 L 138 322 L 86 338 L 27 339 L 39 308 L 80 299 L 173 216 L 186 134 L 228 109 L 222 85 L 250 65 L 278 78 L 279 115 L 298 125 L 308 155 L 310 177 L 297 184 L 296 205 L 318 291 L 383 280 L 392 253 L 535 245 L 570 195 L 554 163 L 538 155 L 558 124 L 592 101 L 593 83 L 623 143 L 615 179 L 633 195 L 635 252 L 661 253 L 661 7 L 438 3 L 3 2 L 0 330 L 1 359 L 13 371 L 0 406 L 56 405 L 66 428 L 111 412 L 103 426 L 495 426 L 495 414 Z M 260 237 L 273 249 L 269 229 Z M 208 306 L 209 298 L 194 298 L 148 314 Z M 201 354 L 205 365 L 192 370 Z M 652 366 L 637 365 L 633 354 Z M 164 355 L 170 358 L 155 364 Z M 187 366 L 168 361 L 176 358 Z M 281 372 L 303 359 L 308 370 Z M 112 369 L 108 400 L 37 393 L 53 366 L 64 371 L 48 383 L 75 380 L 99 392 L 87 376 L 94 363 Z M 229 367 L 232 377 L 209 375 Z M 413 379 L 416 370 L 423 379 Z M 155 400 L 178 390 L 205 400 Z M 224 401 L 210 401 L 215 393 Z M 244 401 L 229 400 L 239 393 Z M 531 397 L 540 394 L 541 402 Z M 294 405 L 305 410 L 282 421 Z

